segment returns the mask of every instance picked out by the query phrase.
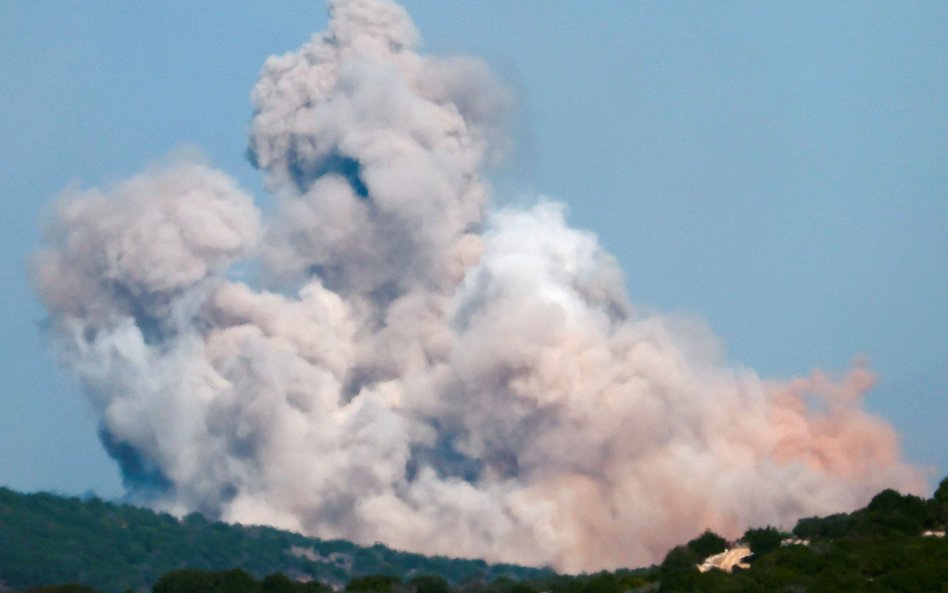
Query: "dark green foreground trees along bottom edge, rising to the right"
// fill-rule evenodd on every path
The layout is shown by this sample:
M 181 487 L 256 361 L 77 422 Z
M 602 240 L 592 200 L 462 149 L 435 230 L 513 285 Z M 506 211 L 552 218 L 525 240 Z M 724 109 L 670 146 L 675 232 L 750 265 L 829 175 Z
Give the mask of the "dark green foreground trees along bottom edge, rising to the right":
M 0 491 L 0 526 L 6 520 Z M 197 519 L 191 519 L 196 521 Z M 749 568 L 700 572 L 724 551 L 723 537 L 704 531 L 654 566 L 595 574 L 550 570 L 486 570 L 463 578 L 426 573 L 419 565 L 343 582 L 312 578 L 297 568 L 255 576 L 241 568 L 176 568 L 152 581 L 151 593 L 948 593 L 948 478 L 930 499 L 884 490 L 852 513 L 800 519 L 790 532 L 748 529 Z M 301 536 L 300 536 L 301 537 Z M 0 554 L 3 544 L 0 538 Z M 351 544 L 350 544 L 351 545 Z M 285 554 L 285 548 L 283 549 Z M 437 563 L 429 566 L 438 566 Z M 480 563 L 477 566 L 487 566 Z M 388 566 L 389 569 L 392 566 Z M 257 573 L 258 575 L 260 573 Z M 457 574 L 455 575 L 457 576 Z M 0 570 L 0 579 L 6 575 Z M 8 580 L 9 582 L 9 580 Z M 49 581 L 47 581 L 49 582 Z M 79 581 L 83 582 L 83 581 Z M 20 588 L 29 593 L 108 593 L 85 584 Z M 129 591 L 127 593 L 132 593 Z

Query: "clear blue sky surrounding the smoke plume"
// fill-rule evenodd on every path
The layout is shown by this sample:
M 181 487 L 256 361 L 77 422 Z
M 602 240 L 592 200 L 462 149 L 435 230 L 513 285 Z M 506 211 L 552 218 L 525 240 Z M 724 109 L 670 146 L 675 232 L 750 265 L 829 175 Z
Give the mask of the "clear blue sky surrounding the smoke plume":
M 404 2 L 432 53 L 515 90 L 498 200 L 565 201 L 633 303 L 704 319 L 768 378 L 880 377 L 868 407 L 948 473 L 948 4 Z M 0 3 L 0 484 L 118 496 L 42 338 L 41 218 L 196 146 L 263 203 L 244 158 L 267 56 L 321 2 Z

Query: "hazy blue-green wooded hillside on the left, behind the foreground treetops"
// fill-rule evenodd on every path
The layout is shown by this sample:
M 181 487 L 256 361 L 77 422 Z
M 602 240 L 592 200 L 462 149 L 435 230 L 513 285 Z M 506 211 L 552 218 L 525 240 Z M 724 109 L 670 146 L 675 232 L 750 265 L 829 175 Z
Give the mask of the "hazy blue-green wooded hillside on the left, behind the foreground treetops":
M 480 560 L 426 557 L 381 544 L 357 546 L 270 527 L 182 520 L 130 505 L 0 488 L 0 590 L 78 582 L 106 593 L 149 591 L 173 569 L 241 567 L 256 577 L 340 585 L 352 577 L 439 575 L 452 584 L 536 578 L 549 571 Z

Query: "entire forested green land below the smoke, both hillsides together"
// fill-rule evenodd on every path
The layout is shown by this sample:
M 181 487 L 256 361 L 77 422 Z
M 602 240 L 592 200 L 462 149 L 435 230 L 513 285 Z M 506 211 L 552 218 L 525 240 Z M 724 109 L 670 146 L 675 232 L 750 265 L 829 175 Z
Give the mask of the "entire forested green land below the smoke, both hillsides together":
M 0 589 L 32 593 L 948 593 L 948 478 L 931 499 L 885 490 L 863 509 L 704 531 L 657 566 L 592 575 L 429 558 L 265 527 L 182 520 L 97 499 L 0 489 Z M 699 570 L 747 548 L 731 572 Z M 69 583 L 69 584 L 56 584 Z

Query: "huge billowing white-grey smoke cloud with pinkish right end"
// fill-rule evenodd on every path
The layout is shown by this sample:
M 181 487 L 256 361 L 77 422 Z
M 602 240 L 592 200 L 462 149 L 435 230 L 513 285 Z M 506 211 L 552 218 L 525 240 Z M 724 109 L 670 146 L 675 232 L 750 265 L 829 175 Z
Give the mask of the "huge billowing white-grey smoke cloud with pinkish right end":
M 592 570 L 923 487 L 862 409 L 862 366 L 728 368 L 700 324 L 635 312 L 561 206 L 487 214 L 505 91 L 481 62 L 416 53 L 386 0 L 330 12 L 253 91 L 265 225 L 185 162 L 66 196 L 36 257 L 133 495 Z

